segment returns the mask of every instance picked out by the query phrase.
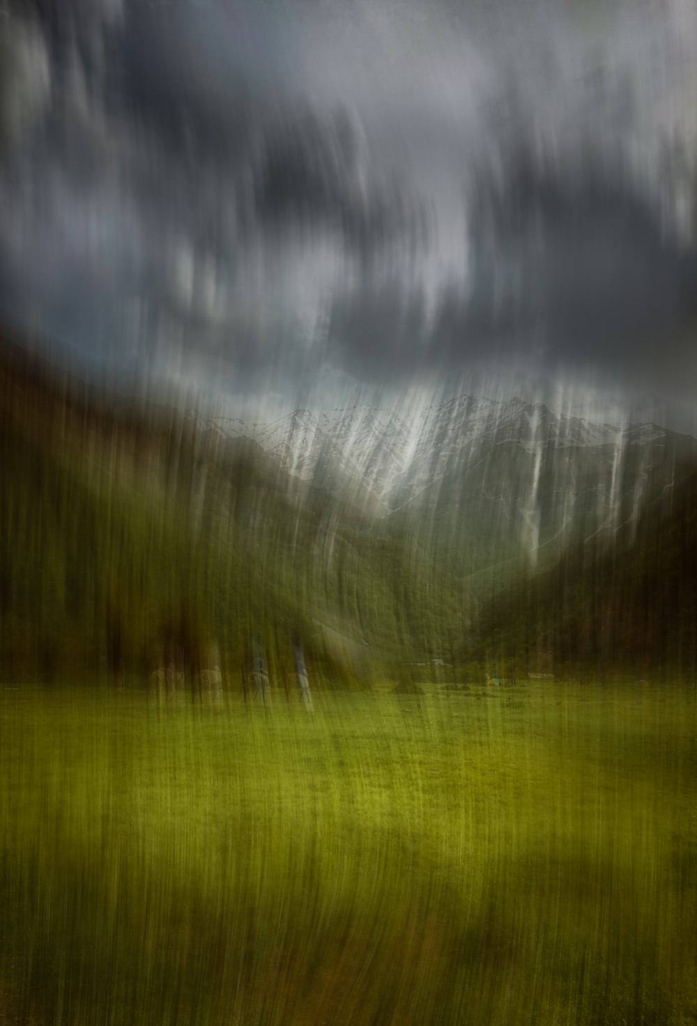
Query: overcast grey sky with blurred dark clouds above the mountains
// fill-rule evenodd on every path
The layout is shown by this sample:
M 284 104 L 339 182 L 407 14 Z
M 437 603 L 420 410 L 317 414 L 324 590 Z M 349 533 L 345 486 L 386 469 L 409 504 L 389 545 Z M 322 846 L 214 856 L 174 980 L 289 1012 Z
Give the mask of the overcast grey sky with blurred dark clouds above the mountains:
M 693 0 L 0 0 L 0 31 L 8 321 L 280 404 L 692 407 Z

